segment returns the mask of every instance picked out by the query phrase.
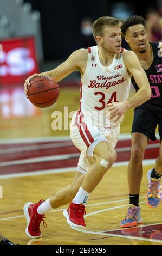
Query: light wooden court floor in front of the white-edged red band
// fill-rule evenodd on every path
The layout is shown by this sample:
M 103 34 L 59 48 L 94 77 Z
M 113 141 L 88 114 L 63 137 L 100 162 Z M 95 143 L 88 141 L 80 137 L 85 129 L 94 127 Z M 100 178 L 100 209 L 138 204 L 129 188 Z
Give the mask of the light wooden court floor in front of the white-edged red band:
M 20 176 L 1 179 L 1 233 L 21 245 L 160 245 L 162 243 L 162 221 L 160 205 L 151 209 L 146 204 L 146 173 L 151 166 L 144 167 L 144 179 L 140 193 L 143 225 L 137 228 L 120 229 L 120 221 L 128 208 L 126 166 L 113 167 L 90 195 L 86 207 L 87 229 L 71 229 L 62 215 L 66 206 L 47 214 L 47 228 L 41 225 L 42 239 L 30 240 L 25 235 L 26 221 L 23 205 L 49 198 L 62 186 L 70 183 L 74 172 L 56 170 L 53 174 Z M 66 170 L 66 169 L 65 169 Z M 29 174 L 28 174 L 29 175 Z M 153 239 L 154 237 L 154 239 Z

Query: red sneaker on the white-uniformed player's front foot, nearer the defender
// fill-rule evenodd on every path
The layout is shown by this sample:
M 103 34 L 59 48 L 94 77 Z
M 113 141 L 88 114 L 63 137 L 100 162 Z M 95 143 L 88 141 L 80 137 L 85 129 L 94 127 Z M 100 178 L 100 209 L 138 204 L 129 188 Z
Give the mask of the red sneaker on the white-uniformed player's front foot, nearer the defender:
M 84 220 L 85 205 L 70 203 L 68 209 L 63 211 L 64 217 L 67 219 L 67 223 L 73 227 L 86 227 Z

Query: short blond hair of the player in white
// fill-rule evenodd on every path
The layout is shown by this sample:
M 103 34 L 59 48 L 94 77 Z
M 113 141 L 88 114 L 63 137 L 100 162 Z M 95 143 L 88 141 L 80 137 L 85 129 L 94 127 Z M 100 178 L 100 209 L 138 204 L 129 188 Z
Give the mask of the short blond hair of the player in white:
M 96 36 L 103 36 L 103 31 L 105 27 L 121 26 L 121 21 L 109 16 L 100 17 L 93 23 L 92 33 L 94 40 L 96 41 Z

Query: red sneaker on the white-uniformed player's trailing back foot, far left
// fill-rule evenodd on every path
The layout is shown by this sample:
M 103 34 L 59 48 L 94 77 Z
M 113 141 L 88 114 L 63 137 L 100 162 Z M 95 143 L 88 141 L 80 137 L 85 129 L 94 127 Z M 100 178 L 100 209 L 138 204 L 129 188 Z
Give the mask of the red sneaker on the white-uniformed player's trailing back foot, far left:
M 47 227 L 46 222 L 44 221 L 44 214 L 38 214 L 37 209 L 44 200 L 40 200 L 37 204 L 28 202 L 24 205 L 24 215 L 27 219 L 27 228 L 25 229 L 25 233 L 30 238 L 38 238 L 41 237 L 40 224 L 43 221 L 44 227 Z

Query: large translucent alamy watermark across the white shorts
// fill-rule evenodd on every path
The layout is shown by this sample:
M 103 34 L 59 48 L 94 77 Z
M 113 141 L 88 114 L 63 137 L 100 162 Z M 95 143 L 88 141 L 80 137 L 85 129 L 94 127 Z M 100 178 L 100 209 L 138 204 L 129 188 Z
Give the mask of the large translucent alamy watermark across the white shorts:
M 54 111 L 51 117 L 54 120 L 51 123 L 51 128 L 54 131 L 67 131 L 70 129 L 70 123 L 76 111 L 69 112 L 68 107 L 63 108 L 63 112 Z M 74 123 L 79 129 L 87 130 L 87 124 L 90 130 L 98 130 L 99 126 L 110 128 L 110 112 L 108 111 L 86 111 L 84 113 L 77 112 L 74 115 Z

